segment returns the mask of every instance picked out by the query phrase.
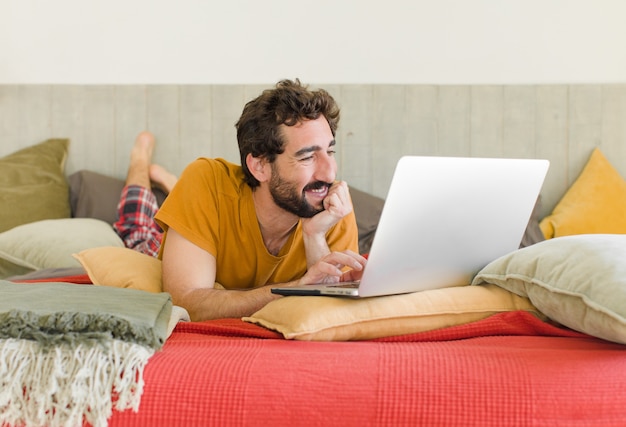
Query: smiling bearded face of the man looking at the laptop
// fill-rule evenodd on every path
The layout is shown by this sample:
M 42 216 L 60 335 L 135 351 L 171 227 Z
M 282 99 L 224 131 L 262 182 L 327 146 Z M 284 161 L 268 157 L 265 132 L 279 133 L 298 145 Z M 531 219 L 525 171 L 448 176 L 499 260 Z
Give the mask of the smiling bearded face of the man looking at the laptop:
M 282 127 L 285 152 L 272 163 L 269 190 L 274 202 L 300 218 L 324 210 L 337 175 L 335 139 L 325 117 Z

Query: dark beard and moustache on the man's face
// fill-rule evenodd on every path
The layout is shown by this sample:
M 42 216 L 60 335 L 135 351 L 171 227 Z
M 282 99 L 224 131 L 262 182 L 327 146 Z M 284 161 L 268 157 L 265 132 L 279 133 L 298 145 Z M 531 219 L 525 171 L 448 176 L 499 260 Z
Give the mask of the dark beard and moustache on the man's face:
M 330 184 L 322 181 L 316 181 L 304 187 L 302 193 L 298 193 L 295 185 L 284 181 L 278 173 L 277 168 L 272 165 L 272 178 L 270 179 L 270 194 L 274 199 L 274 203 L 299 218 L 311 218 L 324 210 L 322 205 L 320 208 L 312 206 L 307 202 L 304 193 L 307 190 L 315 190 L 322 187 L 330 187 Z

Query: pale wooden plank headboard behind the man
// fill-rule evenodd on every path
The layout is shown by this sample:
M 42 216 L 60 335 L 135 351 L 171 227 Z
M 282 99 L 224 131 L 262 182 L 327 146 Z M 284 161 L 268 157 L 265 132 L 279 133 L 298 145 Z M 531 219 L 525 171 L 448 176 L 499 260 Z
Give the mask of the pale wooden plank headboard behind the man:
M 176 173 L 199 156 L 238 163 L 234 124 L 269 86 L 0 85 L 0 156 L 67 137 L 68 174 L 123 178 L 135 136 L 150 130 L 155 161 Z M 323 87 L 342 108 L 339 177 L 381 197 L 404 154 L 549 159 L 544 214 L 594 147 L 626 176 L 626 84 Z

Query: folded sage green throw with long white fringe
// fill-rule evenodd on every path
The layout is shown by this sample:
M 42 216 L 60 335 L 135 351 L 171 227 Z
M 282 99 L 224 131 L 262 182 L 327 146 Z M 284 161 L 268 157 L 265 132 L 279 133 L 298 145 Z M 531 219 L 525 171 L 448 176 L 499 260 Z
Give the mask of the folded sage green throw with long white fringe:
M 171 313 L 167 294 L 0 280 L 0 425 L 100 427 L 137 411 Z

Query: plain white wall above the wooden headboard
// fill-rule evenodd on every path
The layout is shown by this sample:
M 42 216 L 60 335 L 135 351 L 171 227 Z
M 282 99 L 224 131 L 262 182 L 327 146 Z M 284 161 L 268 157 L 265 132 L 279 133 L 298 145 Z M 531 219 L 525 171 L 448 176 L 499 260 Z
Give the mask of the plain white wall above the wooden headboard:
M 0 0 L 0 84 L 626 81 L 623 0 Z

